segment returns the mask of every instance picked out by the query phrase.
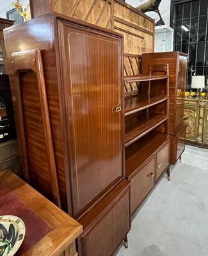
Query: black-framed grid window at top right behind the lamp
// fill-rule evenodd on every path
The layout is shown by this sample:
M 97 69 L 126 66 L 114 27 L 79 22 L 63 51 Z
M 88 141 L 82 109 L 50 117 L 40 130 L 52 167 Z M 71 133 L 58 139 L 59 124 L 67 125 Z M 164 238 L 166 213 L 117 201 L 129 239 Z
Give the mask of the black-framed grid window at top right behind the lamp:
M 193 65 L 197 76 L 204 75 L 205 79 L 208 79 L 208 1 L 177 1 L 173 8 L 173 49 L 187 53 L 188 67 Z M 190 88 L 190 70 L 187 84 L 187 88 Z

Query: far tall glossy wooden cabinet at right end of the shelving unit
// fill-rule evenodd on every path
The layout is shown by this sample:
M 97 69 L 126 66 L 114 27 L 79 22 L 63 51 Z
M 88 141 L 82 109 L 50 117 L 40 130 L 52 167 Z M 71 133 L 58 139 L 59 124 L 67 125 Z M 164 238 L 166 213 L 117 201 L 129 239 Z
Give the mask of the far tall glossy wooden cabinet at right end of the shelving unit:
M 172 136 L 170 163 L 175 164 L 182 154 L 182 151 L 180 151 L 181 154 L 179 156 L 177 143 L 175 143 L 175 141 L 179 140 L 177 136 L 184 134 L 183 131 L 185 129 L 182 124 L 184 115 L 184 92 L 186 88 L 187 54 L 176 51 L 143 54 L 141 63 L 143 74 L 148 73 L 149 62 L 169 64 L 169 134 Z M 183 141 L 185 141 L 185 138 L 183 138 Z M 181 137 L 180 143 L 182 143 Z

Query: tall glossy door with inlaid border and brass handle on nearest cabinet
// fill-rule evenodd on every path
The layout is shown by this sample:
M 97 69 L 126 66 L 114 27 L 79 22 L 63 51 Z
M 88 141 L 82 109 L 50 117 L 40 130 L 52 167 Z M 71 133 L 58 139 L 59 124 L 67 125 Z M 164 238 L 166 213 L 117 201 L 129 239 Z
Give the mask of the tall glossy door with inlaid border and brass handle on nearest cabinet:
M 122 38 L 63 20 L 58 37 L 67 186 L 77 217 L 124 177 Z

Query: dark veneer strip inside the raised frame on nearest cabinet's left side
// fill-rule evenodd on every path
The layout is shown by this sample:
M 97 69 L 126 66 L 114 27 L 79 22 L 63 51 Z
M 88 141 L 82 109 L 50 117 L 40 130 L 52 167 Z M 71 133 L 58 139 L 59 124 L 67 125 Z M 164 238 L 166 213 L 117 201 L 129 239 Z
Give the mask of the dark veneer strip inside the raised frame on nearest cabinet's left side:
M 20 77 L 24 113 L 28 167 L 32 186 L 51 198 L 51 178 L 45 146 L 44 124 L 36 74 L 28 72 Z

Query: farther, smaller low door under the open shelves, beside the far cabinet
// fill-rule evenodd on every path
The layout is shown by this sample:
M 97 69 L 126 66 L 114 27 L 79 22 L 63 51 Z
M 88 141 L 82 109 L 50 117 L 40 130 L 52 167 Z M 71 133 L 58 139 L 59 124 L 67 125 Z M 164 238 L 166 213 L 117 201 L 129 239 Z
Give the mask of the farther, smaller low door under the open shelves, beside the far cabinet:
M 156 180 L 168 167 L 170 155 L 170 142 L 168 142 L 159 152 L 156 157 Z

